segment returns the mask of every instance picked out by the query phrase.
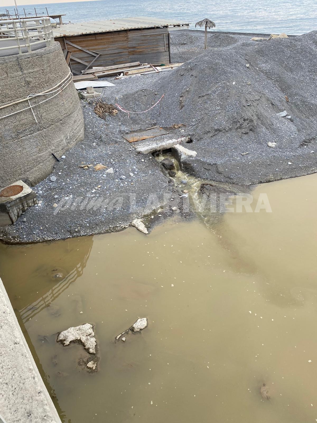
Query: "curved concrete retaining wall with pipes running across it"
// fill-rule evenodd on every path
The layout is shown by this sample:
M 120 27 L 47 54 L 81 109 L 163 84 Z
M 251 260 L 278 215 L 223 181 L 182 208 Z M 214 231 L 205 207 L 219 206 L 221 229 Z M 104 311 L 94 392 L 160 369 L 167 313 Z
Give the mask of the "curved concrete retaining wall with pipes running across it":
M 0 57 L 0 106 L 41 93 L 69 72 L 60 44 L 31 53 Z M 46 99 L 49 96 L 43 96 Z M 39 97 L 31 104 L 41 101 Z M 47 102 L 15 115 L 27 102 L 0 109 L 0 187 L 18 179 L 34 185 L 52 171 L 60 157 L 84 137 L 84 119 L 77 91 L 71 82 Z

